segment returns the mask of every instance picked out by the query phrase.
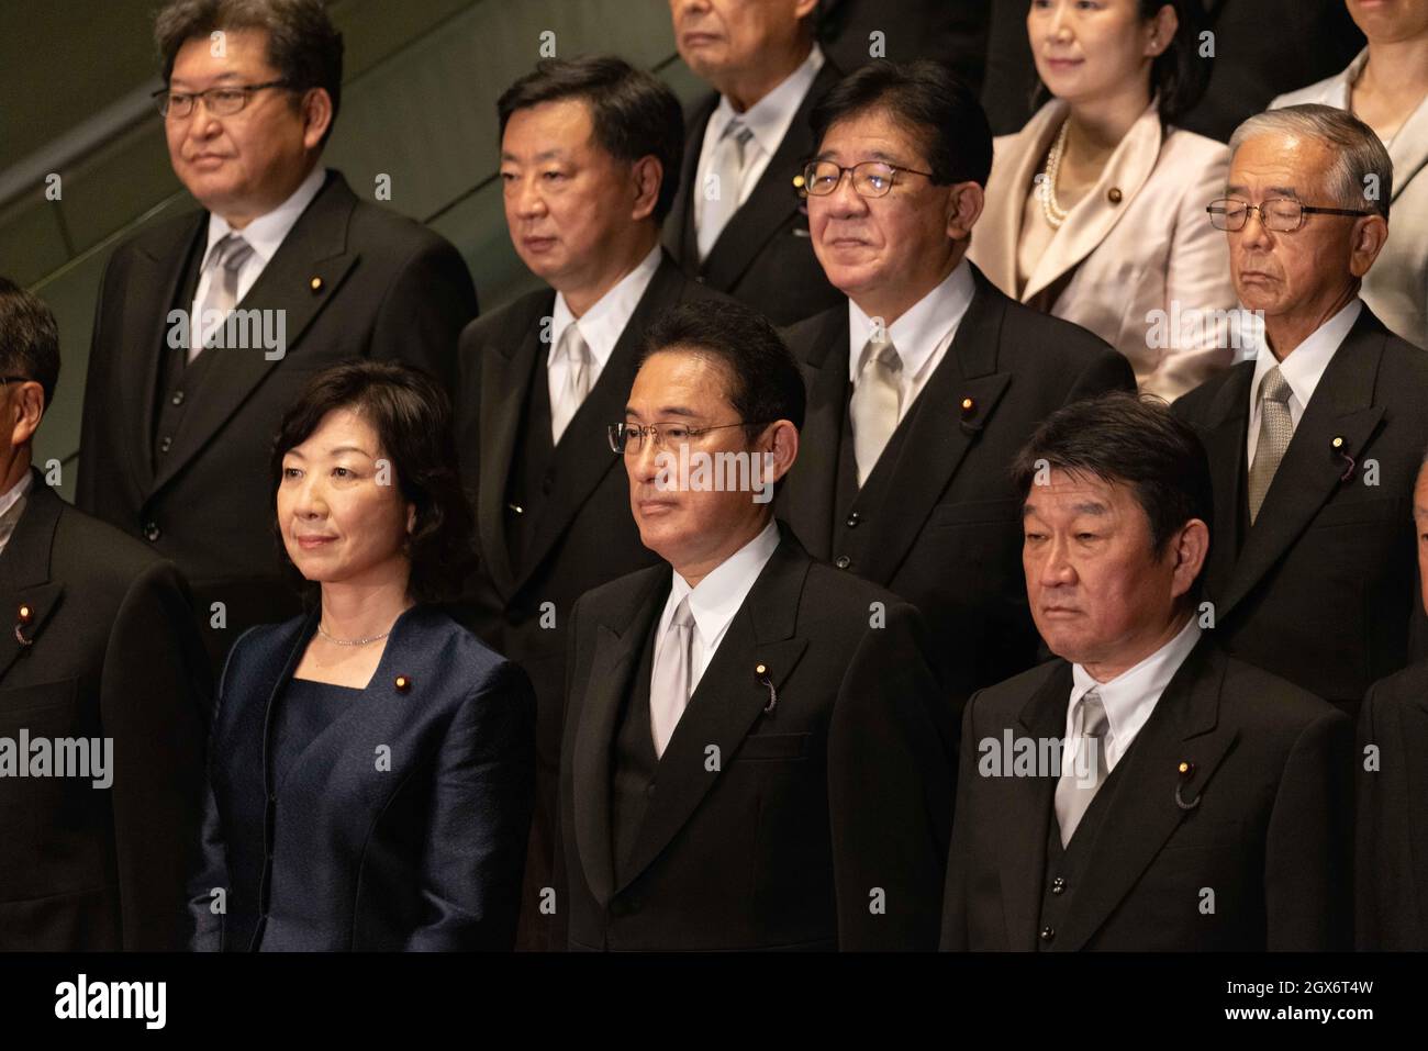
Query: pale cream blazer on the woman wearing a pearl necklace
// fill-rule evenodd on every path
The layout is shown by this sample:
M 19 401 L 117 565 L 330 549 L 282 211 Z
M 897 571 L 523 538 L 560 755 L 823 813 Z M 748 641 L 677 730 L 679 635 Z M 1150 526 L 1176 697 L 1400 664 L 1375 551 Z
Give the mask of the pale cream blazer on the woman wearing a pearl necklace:
M 1014 298 L 1022 207 L 1067 109 L 1054 99 L 1021 131 L 995 140 L 970 256 Z M 1120 350 L 1141 390 L 1171 401 L 1228 368 L 1225 321 L 1238 300 L 1225 234 L 1205 214 L 1224 196 L 1228 164 L 1224 144 L 1162 129 L 1151 103 L 1057 230 L 1021 301 L 1070 276 L 1051 313 Z

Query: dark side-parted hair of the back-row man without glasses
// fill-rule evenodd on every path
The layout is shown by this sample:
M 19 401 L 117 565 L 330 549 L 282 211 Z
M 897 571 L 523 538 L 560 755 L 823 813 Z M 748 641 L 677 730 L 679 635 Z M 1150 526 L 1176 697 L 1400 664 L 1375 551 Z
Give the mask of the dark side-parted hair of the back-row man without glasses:
M 611 157 L 634 164 L 654 157 L 664 170 L 654 221 L 663 223 L 674 204 L 684 160 L 684 113 L 680 99 L 653 73 L 608 54 L 583 59 L 543 59 L 496 101 L 501 134 L 517 110 L 541 103 L 578 99 L 590 107 L 595 141 Z

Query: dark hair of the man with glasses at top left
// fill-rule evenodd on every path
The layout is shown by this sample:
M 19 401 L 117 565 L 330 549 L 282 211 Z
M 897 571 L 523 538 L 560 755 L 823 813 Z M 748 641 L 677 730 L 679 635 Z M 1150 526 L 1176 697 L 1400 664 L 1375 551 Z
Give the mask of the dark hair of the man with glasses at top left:
M 154 20 L 154 43 L 164 63 L 164 83 L 178 50 L 194 37 L 217 30 L 261 30 L 268 34 L 267 60 L 297 94 L 321 87 L 333 99 L 337 124 L 343 104 L 343 34 L 323 0 L 171 0 Z M 327 141 L 323 136 L 323 143 Z

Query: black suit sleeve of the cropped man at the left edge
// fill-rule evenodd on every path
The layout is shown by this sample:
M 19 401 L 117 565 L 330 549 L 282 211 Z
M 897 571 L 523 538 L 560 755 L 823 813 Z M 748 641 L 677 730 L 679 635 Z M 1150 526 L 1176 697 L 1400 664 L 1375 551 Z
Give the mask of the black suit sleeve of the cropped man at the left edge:
M 208 661 L 170 563 L 134 580 L 104 654 L 100 711 L 114 741 L 111 807 L 124 948 L 188 942 L 198 865 Z

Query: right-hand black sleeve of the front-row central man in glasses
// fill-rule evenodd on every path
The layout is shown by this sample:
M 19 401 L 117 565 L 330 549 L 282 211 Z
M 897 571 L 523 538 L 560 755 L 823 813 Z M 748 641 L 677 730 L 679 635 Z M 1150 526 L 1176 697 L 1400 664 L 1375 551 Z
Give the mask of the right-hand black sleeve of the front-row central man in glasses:
M 951 701 L 917 610 L 885 615 L 864 633 L 828 730 L 838 947 L 934 950 L 952 813 L 937 711 Z

